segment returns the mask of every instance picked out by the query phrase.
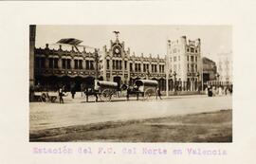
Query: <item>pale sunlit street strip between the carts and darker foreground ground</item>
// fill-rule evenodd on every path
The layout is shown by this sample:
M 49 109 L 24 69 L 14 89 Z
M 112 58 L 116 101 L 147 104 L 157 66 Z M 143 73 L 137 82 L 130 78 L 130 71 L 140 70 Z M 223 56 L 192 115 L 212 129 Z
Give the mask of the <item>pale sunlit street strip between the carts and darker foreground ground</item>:
M 163 118 L 217 110 L 232 109 L 232 97 L 205 95 L 174 96 L 163 100 L 131 100 L 116 98 L 110 102 L 85 102 L 81 95 L 75 100 L 64 98 L 64 104 L 49 102 L 29 103 L 29 131 L 105 121 L 140 118 Z

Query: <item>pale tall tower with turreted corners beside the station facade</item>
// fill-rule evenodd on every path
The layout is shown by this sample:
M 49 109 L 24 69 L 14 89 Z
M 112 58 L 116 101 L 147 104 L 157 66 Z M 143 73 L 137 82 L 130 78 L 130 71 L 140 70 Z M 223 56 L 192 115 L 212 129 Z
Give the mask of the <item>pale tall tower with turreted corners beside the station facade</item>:
M 197 90 L 201 82 L 201 41 L 187 40 L 186 36 L 168 41 L 168 72 L 185 90 Z M 172 83 L 172 82 L 171 82 Z

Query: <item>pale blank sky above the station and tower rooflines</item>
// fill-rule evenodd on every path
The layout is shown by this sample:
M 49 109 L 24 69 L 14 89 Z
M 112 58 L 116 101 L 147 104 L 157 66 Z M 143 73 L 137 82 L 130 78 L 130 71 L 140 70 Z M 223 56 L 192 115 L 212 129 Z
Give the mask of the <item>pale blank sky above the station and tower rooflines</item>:
M 102 49 L 110 46 L 110 40 L 115 41 L 113 33 L 118 30 L 119 41 L 125 42 L 125 49 L 130 47 L 131 53 L 141 53 L 144 56 L 152 54 L 160 57 L 166 55 L 166 41 L 175 41 L 186 35 L 187 40 L 201 39 L 201 55 L 213 61 L 217 54 L 232 51 L 231 26 L 49 26 L 36 27 L 36 47 L 55 44 L 62 38 L 82 40 L 82 46 L 92 46 Z M 67 49 L 70 47 L 66 47 Z M 87 49 L 89 50 L 89 49 Z

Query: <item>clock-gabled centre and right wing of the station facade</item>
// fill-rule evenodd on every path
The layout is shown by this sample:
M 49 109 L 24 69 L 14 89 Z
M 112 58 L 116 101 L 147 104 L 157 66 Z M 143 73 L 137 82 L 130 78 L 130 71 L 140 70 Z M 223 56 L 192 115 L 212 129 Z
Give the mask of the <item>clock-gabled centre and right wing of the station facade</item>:
M 165 58 L 145 57 L 131 54 L 130 48 L 124 48 L 124 42 L 110 41 L 110 48 L 103 46 L 100 58 L 101 77 L 113 81 L 133 85 L 138 79 L 156 80 L 160 90 L 165 89 Z

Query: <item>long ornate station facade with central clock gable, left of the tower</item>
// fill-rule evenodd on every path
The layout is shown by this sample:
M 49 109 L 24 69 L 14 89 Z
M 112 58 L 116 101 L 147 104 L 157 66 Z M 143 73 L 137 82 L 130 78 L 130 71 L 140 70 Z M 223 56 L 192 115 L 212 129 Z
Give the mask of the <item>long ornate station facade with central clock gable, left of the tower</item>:
M 98 52 L 87 52 L 72 46 L 71 50 L 61 45 L 55 49 L 34 48 L 34 85 L 40 84 L 47 90 L 56 90 L 60 85 L 70 89 L 74 84 L 77 90 L 81 85 L 93 85 L 94 80 L 118 82 L 132 85 L 138 79 L 151 79 L 159 83 L 160 90 L 165 89 L 165 59 L 136 56 L 130 48 L 124 48 L 124 42 L 110 41 L 110 48 L 103 46 Z

